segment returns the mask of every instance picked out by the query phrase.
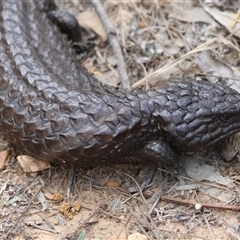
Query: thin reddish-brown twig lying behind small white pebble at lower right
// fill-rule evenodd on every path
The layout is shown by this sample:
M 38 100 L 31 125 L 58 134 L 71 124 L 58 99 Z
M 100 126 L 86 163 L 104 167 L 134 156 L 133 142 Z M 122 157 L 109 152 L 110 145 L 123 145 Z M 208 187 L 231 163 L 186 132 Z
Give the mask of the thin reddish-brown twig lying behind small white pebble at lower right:
M 172 203 L 180 203 L 184 205 L 195 205 L 196 202 L 193 202 L 191 200 L 183 200 L 181 198 L 171 198 L 168 196 L 161 196 L 161 200 L 167 201 L 167 202 L 172 202 Z M 230 211 L 235 211 L 235 212 L 240 212 L 240 207 L 239 206 L 234 206 L 234 205 L 216 205 L 216 204 L 210 204 L 210 203 L 201 203 L 202 207 L 207 207 L 207 208 L 214 208 L 214 209 L 220 209 L 220 210 L 230 210 Z

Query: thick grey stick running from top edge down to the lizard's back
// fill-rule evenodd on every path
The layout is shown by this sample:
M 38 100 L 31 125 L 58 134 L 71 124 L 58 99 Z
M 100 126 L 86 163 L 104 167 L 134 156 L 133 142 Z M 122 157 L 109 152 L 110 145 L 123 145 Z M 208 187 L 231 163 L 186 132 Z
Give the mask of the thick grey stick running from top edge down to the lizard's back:
M 130 90 L 131 89 L 130 82 L 129 82 L 127 71 L 125 68 L 125 62 L 122 55 L 122 50 L 117 40 L 116 31 L 113 28 L 113 25 L 111 24 L 107 16 L 107 13 L 105 12 L 104 7 L 102 6 L 101 1 L 91 0 L 91 4 L 94 6 L 96 12 L 98 13 L 99 18 L 102 21 L 105 31 L 107 32 L 110 45 L 114 51 L 114 55 L 117 60 L 118 74 L 119 74 L 120 81 L 122 83 L 122 87 L 125 90 Z

